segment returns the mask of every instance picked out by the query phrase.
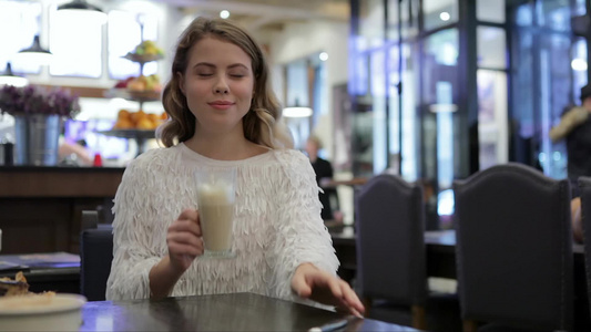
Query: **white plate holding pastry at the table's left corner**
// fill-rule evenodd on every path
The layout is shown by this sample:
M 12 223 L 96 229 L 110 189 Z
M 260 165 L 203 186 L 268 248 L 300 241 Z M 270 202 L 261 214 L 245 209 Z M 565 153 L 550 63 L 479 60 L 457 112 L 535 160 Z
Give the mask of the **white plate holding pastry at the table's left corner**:
M 55 294 L 51 299 L 0 299 L 0 331 L 78 331 L 86 298 Z

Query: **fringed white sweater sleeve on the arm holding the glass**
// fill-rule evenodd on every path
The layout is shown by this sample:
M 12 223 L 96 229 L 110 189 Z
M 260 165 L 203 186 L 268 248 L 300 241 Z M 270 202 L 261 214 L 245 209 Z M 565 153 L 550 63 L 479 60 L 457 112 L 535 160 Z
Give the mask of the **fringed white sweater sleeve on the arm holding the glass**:
M 150 172 L 150 152 L 132 162 L 118 188 L 113 212 L 113 261 L 106 282 L 106 300 L 144 299 L 150 297 L 149 273 L 160 261 L 155 252 L 150 207 L 154 199 L 155 175 Z

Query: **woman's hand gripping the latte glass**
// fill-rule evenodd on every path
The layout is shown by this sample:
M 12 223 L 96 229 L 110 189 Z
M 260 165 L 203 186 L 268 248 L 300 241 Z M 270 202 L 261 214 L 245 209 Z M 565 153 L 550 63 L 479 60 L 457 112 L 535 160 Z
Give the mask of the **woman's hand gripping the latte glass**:
M 188 269 L 193 260 L 203 255 L 203 239 L 197 210 L 186 209 L 174 220 L 169 227 L 166 245 L 171 264 L 180 272 Z

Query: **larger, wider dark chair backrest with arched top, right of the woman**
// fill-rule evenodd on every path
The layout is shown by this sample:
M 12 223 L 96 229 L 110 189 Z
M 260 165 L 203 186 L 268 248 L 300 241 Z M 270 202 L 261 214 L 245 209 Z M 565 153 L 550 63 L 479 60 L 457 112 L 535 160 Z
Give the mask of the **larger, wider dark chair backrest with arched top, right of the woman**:
M 462 319 L 571 331 L 568 180 L 509 163 L 454 189 Z

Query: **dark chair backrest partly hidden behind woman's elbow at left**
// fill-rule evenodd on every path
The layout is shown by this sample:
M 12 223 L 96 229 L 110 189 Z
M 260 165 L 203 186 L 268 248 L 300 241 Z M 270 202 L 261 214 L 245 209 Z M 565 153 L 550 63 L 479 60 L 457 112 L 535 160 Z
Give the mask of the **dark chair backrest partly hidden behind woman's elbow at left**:
M 113 260 L 113 228 L 98 225 L 98 228 L 82 230 L 80 235 L 80 292 L 89 301 L 105 299 L 106 280 Z

